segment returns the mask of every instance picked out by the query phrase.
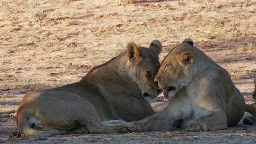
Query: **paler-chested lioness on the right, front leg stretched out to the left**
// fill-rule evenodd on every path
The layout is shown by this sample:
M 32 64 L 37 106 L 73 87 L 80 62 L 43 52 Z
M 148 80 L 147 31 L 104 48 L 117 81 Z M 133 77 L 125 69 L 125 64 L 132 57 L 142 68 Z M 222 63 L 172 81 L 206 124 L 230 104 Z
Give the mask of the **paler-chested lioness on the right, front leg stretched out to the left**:
M 155 82 L 171 101 L 167 107 L 122 131 L 186 128 L 220 130 L 236 125 L 249 110 L 229 73 L 217 65 L 191 39 L 175 46 L 164 58 Z

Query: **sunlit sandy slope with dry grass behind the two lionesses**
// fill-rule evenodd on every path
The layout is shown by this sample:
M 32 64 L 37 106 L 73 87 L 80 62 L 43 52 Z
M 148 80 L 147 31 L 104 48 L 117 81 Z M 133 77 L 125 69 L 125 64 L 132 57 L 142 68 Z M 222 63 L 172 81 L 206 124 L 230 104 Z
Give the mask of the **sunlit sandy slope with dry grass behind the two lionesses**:
M 0 49 L 0 61 L 7 63 L 0 68 L 4 73 L 15 73 L 16 65 L 22 65 L 22 70 L 15 73 L 18 81 L 26 81 L 27 77 L 39 80 L 44 73 L 65 71 L 66 63 L 79 67 L 106 62 L 125 51 L 129 41 L 148 46 L 153 39 L 159 39 L 163 51 L 168 52 L 187 37 L 205 51 L 216 52 L 214 47 L 231 49 L 228 57 L 219 52 L 213 58 L 218 63 L 232 62 L 234 55 L 253 56 L 256 52 L 255 5 L 247 0 L 159 3 L 2 0 L 0 46 L 4 49 Z M 48 69 L 55 65 L 57 69 Z M 10 87 L 15 82 L 13 79 Z

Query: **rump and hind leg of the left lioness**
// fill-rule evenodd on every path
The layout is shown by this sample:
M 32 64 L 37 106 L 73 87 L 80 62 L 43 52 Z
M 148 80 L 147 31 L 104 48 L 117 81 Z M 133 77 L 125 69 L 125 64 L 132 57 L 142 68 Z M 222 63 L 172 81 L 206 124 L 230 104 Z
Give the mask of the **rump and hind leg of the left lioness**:
M 97 114 L 94 105 L 73 93 L 46 91 L 36 95 L 34 99 L 31 102 L 33 105 L 22 105 L 18 111 L 17 126 L 23 134 L 62 134 L 79 124 L 85 126 L 92 134 L 118 133 L 123 126 L 133 127 L 133 124 L 128 123 L 102 124 L 102 118 Z M 47 107 L 42 105 L 41 101 L 44 101 Z M 31 108 L 35 111 L 30 112 Z M 29 121 L 30 118 L 32 121 Z

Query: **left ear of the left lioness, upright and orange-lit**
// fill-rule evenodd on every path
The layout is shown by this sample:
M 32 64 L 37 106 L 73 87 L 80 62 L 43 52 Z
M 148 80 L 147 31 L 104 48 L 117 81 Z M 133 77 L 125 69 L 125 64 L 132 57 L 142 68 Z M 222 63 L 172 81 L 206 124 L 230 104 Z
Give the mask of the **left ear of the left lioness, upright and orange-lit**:
M 139 49 L 134 42 L 128 43 L 127 51 L 128 51 L 128 60 L 136 63 L 140 63 L 142 61 Z

